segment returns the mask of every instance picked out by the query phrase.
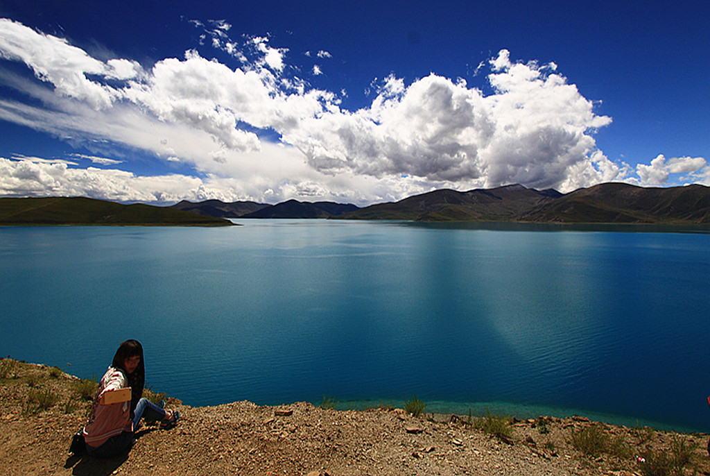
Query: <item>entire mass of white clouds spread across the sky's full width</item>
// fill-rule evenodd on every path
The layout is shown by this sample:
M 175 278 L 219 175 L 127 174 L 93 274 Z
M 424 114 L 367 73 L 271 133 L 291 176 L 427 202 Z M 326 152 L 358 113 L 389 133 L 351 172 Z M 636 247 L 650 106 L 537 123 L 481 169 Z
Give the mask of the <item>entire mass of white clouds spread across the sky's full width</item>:
M 596 114 L 555 63 L 513 61 L 508 50 L 486 63 L 491 94 L 435 73 L 410 83 L 391 75 L 373 83 L 371 104 L 349 111 L 337 94 L 298 77 L 286 63 L 287 48 L 274 48 L 268 36 L 233 40 L 226 21 L 192 24 L 214 48 L 239 60 L 235 69 L 187 50 L 184 58 L 164 58 L 143 70 L 130 59 L 104 62 L 62 38 L 0 22 L 0 58 L 26 64 L 53 87 L 0 70 L 0 82 L 38 100 L 0 99 L 0 119 L 89 147 L 99 155 L 77 157 L 103 166 L 118 163 L 110 149 L 121 144 L 189 163 L 204 176 L 158 180 L 4 159 L 8 180 L 0 193 L 109 198 L 110 191 L 118 200 L 155 201 L 215 190 L 215 198 L 234 200 L 363 205 L 442 187 L 521 183 L 569 191 L 609 180 L 660 185 L 674 174 L 710 175 L 699 157 L 658 156 L 635 170 L 611 161 L 594 139 L 611 118 Z M 331 57 L 324 50 L 316 55 Z M 313 75 L 321 72 L 312 67 Z M 272 139 L 262 139 L 265 131 Z M 108 191 L 97 195 L 101 187 Z

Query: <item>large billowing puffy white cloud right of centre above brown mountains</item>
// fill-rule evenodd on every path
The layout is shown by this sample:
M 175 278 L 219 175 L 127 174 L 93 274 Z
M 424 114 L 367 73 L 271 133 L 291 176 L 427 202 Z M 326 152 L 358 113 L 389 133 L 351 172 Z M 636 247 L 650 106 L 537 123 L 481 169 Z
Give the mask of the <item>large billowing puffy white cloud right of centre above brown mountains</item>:
M 610 175 L 592 133 L 611 119 L 577 87 L 549 66 L 510 63 L 506 50 L 491 65 L 495 94 L 435 74 L 409 86 L 388 77 L 371 107 L 309 117 L 284 140 L 324 173 L 536 188 L 567 183 L 575 167 Z

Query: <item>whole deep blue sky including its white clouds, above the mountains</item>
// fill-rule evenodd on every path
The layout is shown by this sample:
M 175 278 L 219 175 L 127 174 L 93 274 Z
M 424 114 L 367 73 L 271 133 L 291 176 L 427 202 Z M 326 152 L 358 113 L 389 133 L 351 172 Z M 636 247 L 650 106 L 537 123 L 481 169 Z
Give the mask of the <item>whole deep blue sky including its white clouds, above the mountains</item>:
M 704 1 L 0 0 L 0 18 L 0 196 L 710 185 Z

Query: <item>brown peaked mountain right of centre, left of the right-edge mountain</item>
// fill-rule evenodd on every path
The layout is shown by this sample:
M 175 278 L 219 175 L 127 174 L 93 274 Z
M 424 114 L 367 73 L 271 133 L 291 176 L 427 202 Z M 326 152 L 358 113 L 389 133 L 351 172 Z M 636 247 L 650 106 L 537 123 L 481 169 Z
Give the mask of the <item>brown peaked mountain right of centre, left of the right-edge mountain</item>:
M 516 220 L 520 213 L 542 202 L 562 197 L 557 190 L 533 190 L 506 185 L 468 192 L 434 190 L 398 202 L 380 203 L 346 213 L 351 220 Z

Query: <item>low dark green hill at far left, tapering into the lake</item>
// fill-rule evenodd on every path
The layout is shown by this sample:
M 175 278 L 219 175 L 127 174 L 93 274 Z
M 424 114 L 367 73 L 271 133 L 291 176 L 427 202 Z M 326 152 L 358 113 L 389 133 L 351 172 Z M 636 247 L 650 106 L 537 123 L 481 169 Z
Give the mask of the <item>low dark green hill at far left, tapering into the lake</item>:
M 93 198 L 0 198 L 0 225 L 233 225 L 222 218 Z

